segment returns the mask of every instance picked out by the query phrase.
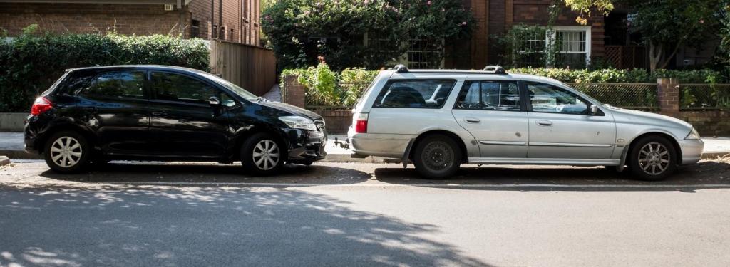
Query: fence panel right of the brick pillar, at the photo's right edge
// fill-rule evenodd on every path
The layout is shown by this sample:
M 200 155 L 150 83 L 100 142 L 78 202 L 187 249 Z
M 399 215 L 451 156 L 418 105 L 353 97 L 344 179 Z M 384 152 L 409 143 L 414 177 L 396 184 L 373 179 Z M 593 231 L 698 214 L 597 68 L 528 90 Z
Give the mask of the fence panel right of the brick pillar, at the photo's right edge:
M 730 109 L 730 84 L 680 84 L 680 110 Z

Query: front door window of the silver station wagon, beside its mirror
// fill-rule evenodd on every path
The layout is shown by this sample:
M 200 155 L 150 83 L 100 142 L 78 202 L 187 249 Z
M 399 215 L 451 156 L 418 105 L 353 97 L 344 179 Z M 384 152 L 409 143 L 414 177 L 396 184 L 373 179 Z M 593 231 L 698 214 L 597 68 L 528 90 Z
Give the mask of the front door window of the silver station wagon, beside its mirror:
M 533 112 L 588 114 L 588 104 L 575 93 L 555 85 L 526 82 Z

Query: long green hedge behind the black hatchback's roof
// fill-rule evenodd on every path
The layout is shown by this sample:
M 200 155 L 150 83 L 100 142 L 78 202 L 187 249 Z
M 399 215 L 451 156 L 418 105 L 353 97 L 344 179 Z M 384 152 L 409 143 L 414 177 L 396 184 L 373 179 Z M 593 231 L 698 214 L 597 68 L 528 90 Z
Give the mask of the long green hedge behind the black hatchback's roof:
M 28 112 L 65 69 L 118 64 L 186 66 L 207 71 L 200 39 L 118 34 L 26 34 L 0 38 L 0 112 Z

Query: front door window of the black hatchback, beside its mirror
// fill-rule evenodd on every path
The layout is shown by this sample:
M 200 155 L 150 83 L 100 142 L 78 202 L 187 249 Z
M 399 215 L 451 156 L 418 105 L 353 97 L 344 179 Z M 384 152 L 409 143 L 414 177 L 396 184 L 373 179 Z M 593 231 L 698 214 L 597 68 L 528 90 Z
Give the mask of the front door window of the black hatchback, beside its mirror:
M 218 90 L 205 82 L 169 72 L 152 71 L 150 85 L 160 100 L 208 104 L 208 98 L 218 96 Z

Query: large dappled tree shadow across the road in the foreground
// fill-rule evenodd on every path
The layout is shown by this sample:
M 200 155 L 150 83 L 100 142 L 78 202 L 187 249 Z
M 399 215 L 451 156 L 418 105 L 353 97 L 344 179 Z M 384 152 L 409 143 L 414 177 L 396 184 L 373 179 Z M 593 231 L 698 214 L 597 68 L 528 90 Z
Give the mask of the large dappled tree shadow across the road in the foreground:
M 330 196 L 105 188 L 1 191 L 0 266 L 488 266 L 424 238 L 434 225 Z

